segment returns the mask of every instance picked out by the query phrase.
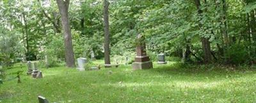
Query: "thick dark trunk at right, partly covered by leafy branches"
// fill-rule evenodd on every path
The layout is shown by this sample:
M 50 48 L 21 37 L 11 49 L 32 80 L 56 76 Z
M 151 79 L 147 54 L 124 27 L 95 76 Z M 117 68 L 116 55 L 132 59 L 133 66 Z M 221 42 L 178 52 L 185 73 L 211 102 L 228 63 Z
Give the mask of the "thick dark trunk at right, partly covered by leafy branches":
M 200 18 L 200 20 L 202 20 L 203 11 L 200 8 L 200 6 L 201 6 L 200 0 L 194 0 L 194 1 L 195 1 L 195 4 L 196 4 L 197 11 L 198 11 L 198 17 Z M 203 24 L 200 21 L 199 21 L 199 26 L 200 27 L 203 26 Z M 202 27 L 202 28 L 204 28 L 204 27 Z M 201 38 L 201 42 L 202 42 L 202 48 L 203 48 L 203 51 L 204 51 L 204 63 L 209 64 L 209 63 L 212 62 L 211 43 L 209 42 L 208 38 L 204 38 L 204 37 Z

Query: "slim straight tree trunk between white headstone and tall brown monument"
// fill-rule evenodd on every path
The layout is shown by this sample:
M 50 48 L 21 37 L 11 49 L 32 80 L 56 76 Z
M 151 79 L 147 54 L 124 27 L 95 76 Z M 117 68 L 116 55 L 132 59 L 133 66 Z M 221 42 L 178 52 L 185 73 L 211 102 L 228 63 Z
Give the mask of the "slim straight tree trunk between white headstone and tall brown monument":
M 104 58 L 105 64 L 110 64 L 110 48 L 109 48 L 109 12 L 108 12 L 109 2 L 104 0 Z

